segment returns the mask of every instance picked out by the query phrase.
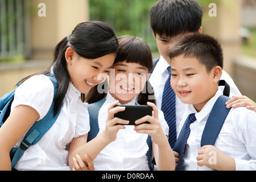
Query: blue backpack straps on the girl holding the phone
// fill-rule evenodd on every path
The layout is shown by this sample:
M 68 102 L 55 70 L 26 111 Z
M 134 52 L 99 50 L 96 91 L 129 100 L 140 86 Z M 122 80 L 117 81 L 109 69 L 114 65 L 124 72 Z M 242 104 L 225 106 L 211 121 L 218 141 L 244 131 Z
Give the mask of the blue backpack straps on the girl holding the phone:
M 88 106 L 88 112 L 90 116 L 90 131 L 88 133 L 87 142 L 95 138 L 99 132 L 98 127 L 98 111 L 100 110 L 101 106 L 106 101 L 106 98 L 94 102 L 93 104 L 89 104 Z M 137 102 L 135 102 L 136 105 L 138 105 Z M 150 170 L 154 170 L 154 164 L 152 163 L 152 143 L 151 143 L 151 137 L 148 135 L 147 137 L 147 145 L 148 145 L 148 151 L 147 151 L 147 160 L 148 160 L 148 167 Z

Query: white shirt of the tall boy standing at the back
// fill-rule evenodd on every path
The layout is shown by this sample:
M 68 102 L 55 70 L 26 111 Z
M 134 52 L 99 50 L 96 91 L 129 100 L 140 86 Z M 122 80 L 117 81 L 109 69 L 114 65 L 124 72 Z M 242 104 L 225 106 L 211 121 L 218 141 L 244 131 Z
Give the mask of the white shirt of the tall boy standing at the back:
M 170 64 L 167 63 L 167 61 L 163 58 L 163 56 L 160 56 L 160 59 L 156 64 L 155 69 L 149 78 L 150 84 L 154 89 L 156 106 L 158 107 L 158 109 L 161 109 L 162 107 L 163 89 L 164 89 L 164 84 L 166 83 L 166 80 L 169 77 L 169 73 L 167 71 L 167 68 L 169 66 Z M 220 80 L 225 80 L 229 84 L 230 86 L 229 97 L 232 97 L 234 95 L 241 95 L 236 84 L 234 84 L 234 81 L 232 80 L 232 78 L 224 70 L 222 71 L 222 76 Z M 220 86 L 220 89 L 223 91 L 224 86 Z M 180 101 L 179 97 L 176 96 L 175 105 L 176 105 L 176 130 L 178 130 L 181 117 L 185 111 L 185 107 L 187 106 L 187 104 L 183 104 Z

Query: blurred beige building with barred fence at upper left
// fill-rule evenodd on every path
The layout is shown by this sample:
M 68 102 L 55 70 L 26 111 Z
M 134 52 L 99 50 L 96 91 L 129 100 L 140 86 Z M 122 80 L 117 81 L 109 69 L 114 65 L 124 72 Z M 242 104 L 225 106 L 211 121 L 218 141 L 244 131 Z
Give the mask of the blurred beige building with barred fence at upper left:
M 0 97 L 51 64 L 56 44 L 89 20 L 88 6 L 89 0 L 0 1 L 0 60 L 26 60 L 0 63 Z

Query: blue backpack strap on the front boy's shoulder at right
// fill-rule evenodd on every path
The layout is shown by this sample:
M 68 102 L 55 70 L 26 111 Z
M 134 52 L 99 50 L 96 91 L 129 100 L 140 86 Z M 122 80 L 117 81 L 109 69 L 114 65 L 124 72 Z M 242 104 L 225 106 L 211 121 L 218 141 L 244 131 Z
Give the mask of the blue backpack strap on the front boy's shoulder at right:
M 229 97 L 220 96 L 213 105 L 212 111 L 207 119 L 205 124 L 203 135 L 201 138 L 201 147 L 206 144 L 211 144 L 214 146 L 214 143 L 220 133 L 222 125 L 229 114 L 231 108 L 227 109 L 225 102 L 230 100 Z

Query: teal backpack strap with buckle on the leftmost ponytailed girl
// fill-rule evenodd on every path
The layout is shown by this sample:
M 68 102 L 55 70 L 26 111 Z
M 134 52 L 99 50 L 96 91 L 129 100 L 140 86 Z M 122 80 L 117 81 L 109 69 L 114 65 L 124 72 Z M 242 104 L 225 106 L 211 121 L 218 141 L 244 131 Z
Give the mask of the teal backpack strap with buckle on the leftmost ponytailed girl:
M 52 84 L 54 86 L 54 96 L 55 98 L 57 93 L 57 80 L 53 75 L 48 76 L 49 79 L 52 81 Z M 31 129 L 28 131 L 28 133 L 25 135 L 22 143 L 20 146 L 16 149 L 12 149 L 12 152 L 15 152 L 15 154 L 10 154 L 13 156 L 13 159 L 11 160 L 11 168 L 13 169 L 16 162 L 20 159 L 20 157 L 24 154 L 24 152 L 27 150 L 28 147 L 30 147 L 32 144 L 36 144 L 43 135 L 49 130 L 49 128 L 53 125 L 53 123 L 56 121 L 57 117 L 60 114 L 60 109 L 57 112 L 56 115 L 54 115 L 54 99 L 52 102 L 52 105 L 47 113 L 47 115 L 34 123 L 34 125 L 31 127 Z

